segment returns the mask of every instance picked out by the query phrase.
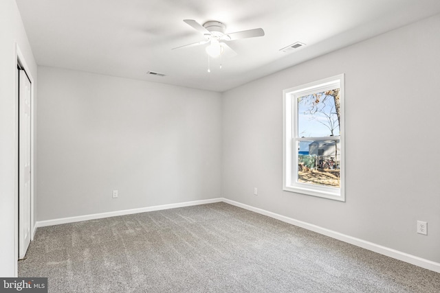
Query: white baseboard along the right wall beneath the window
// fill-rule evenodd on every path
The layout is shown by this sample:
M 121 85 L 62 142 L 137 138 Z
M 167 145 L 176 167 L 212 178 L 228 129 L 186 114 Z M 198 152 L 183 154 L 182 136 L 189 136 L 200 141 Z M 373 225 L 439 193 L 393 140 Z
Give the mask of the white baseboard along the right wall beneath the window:
M 399 250 L 395 250 L 392 248 L 388 248 L 379 244 L 375 244 L 373 242 L 368 242 L 359 238 L 351 237 L 349 235 L 345 235 L 342 233 L 338 233 L 336 231 L 329 230 L 327 228 L 322 228 L 320 226 L 316 226 L 314 224 L 309 224 L 307 222 L 295 220 L 289 217 L 285 217 L 284 215 L 279 215 L 278 213 L 272 213 L 271 211 L 265 211 L 264 209 L 259 209 L 256 207 L 252 207 L 248 204 L 242 204 L 241 202 L 235 202 L 234 200 L 228 200 L 227 198 L 223 198 L 223 202 L 228 204 L 232 204 L 236 207 L 241 207 L 243 209 L 247 209 L 249 211 L 254 211 L 256 213 L 261 213 L 262 215 L 267 215 L 270 218 L 274 218 L 277 220 L 281 220 L 283 222 L 305 228 L 310 231 L 314 231 L 316 233 L 320 233 L 322 235 L 326 235 L 335 239 L 338 239 L 343 242 L 347 242 L 349 244 L 353 244 L 355 246 L 359 246 L 375 253 L 380 253 L 381 255 L 386 255 L 387 257 L 392 257 L 393 259 L 399 259 L 400 261 L 405 261 L 407 263 L 411 263 L 415 266 L 419 266 L 421 268 L 426 268 L 427 270 L 432 270 L 434 272 L 440 272 L 440 263 L 430 261 L 428 259 L 422 259 L 421 257 L 416 257 L 415 255 L 409 255 L 408 253 L 402 253 Z

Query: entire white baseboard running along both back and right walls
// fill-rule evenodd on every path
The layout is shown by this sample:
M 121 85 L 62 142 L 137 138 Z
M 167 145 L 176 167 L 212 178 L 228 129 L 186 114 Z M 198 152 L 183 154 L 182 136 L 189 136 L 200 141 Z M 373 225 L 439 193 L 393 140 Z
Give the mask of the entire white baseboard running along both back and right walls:
M 236 202 L 234 200 L 228 200 L 227 198 L 213 198 L 210 200 L 195 200 L 192 202 L 180 202 L 177 204 L 162 204 L 153 207 L 143 207 L 139 209 L 126 209 L 123 211 L 111 211 L 107 213 L 95 213 L 92 215 L 80 215 L 76 217 L 69 218 L 61 218 L 54 220 L 45 220 L 38 221 L 35 223 L 34 231 L 32 234 L 35 234 L 36 228 L 43 226 L 54 226 L 58 224 L 67 224 L 73 222 L 81 222 L 87 220 L 101 219 L 101 218 L 109 218 L 115 217 L 118 215 L 129 215 L 133 213 L 144 213 L 147 211 L 160 211 L 163 209 L 174 209 L 177 207 L 189 207 L 198 204 L 209 204 L 213 202 L 226 202 L 228 204 L 232 204 L 236 207 L 241 207 L 243 209 L 247 209 L 249 211 L 254 211 L 255 213 L 261 213 L 262 215 L 267 215 L 268 217 L 281 220 L 283 222 L 305 228 L 310 231 L 314 231 L 316 233 L 320 233 L 322 235 L 326 235 L 335 239 L 338 239 L 343 242 L 347 242 L 349 244 L 353 244 L 355 246 L 359 246 L 375 253 L 380 253 L 381 255 L 386 255 L 387 257 L 393 257 L 393 259 L 399 259 L 400 261 L 405 261 L 407 263 L 411 263 L 415 266 L 419 266 L 421 268 L 426 268 L 427 270 L 432 270 L 434 272 L 440 272 L 440 263 L 430 261 L 428 259 L 422 259 L 421 257 L 416 257 L 415 255 L 409 255 L 408 253 L 402 253 L 399 250 L 395 250 L 392 248 L 388 248 L 379 244 L 375 244 L 373 242 L 368 242 L 359 238 L 351 237 L 349 235 L 345 235 L 336 231 L 329 230 L 327 228 L 322 228 L 320 226 L 316 226 L 314 224 L 309 224 L 307 222 L 303 222 L 300 220 L 295 220 L 293 218 L 286 217 L 284 215 L 279 215 L 278 213 L 272 213 L 271 211 L 266 211 L 264 209 L 259 209 L 256 207 L 252 207 L 248 204 L 242 204 L 241 202 Z

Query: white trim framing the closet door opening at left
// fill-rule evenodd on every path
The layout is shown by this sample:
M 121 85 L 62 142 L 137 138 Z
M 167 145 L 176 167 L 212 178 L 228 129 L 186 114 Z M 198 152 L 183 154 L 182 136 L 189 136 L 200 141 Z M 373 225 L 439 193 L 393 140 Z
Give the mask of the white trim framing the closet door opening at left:
M 13 71 L 14 76 L 14 91 L 15 91 L 15 103 L 14 103 L 14 259 L 19 259 L 19 76 L 17 74 L 17 65 L 20 63 L 21 67 L 28 74 L 28 78 L 31 82 L 31 91 L 30 91 L 30 99 L 31 99 L 31 122 L 30 122 L 30 162 L 31 162 L 31 185 L 30 185 L 30 219 L 31 219 L 31 241 L 34 239 L 34 230 L 35 230 L 35 213 L 34 213 L 34 174 L 35 174 L 35 161 L 34 161 L 34 148 L 35 148 L 35 139 L 34 139 L 34 121 L 35 121 L 35 101 L 34 101 L 34 93 L 35 93 L 35 80 L 30 71 L 30 67 L 26 62 L 23 53 L 21 53 L 21 49 L 17 43 L 15 43 L 14 49 L 14 68 L 11 69 Z M 15 277 L 18 275 L 18 264 L 17 261 L 14 261 L 14 274 Z

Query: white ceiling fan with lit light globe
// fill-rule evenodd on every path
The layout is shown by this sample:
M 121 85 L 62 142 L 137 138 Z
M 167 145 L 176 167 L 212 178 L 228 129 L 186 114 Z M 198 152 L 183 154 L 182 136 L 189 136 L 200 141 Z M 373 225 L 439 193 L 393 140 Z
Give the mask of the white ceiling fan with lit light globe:
M 228 48 L 230 51 L 234 52 L 234 50 L 226 45 L 225 42 L 228 42 L 230 40 L 239 40 L 241 38 L 254 38 L 256 36 L 264 36 L 264 30 L 262 28 L 243 30 L 241 32 L 232 32 L 230 34 L 226 34 L 226 25 L 219 21 L 208 21 L 206 23 L 203 23 L 203 25 L 197 23 L 197 21 L 194 21 L 192 19 L 184 19 L 184 22 L 197 30 L 197 32 L 203 34 L 205 40 L 201 40 L 197 43 L 183 45 L 180 47 L 175 47 L 173 49 L 193 47 L 210 43 L 210 45 L 206 47 L 206 53 L 212 58 L 217 58 L 221 54 L 223 54 L 225 48 Z M 234 54 L 236 53 L 234 52 Z

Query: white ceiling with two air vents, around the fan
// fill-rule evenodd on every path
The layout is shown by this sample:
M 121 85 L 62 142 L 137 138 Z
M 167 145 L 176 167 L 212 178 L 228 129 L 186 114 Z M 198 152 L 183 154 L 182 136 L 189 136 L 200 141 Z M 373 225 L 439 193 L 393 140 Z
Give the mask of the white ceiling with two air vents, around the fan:
M 440 13 L 439 0 L 17 0 L 38 65 L 226 91 Z M 226 32 L 262 27 L 230 41 L 238 55 L 211 59 L 184 23 L 221 21 Z M 307 44 L 290 53 L 281 48 Z M 165 77 L 147 75 L 165 73 Z

